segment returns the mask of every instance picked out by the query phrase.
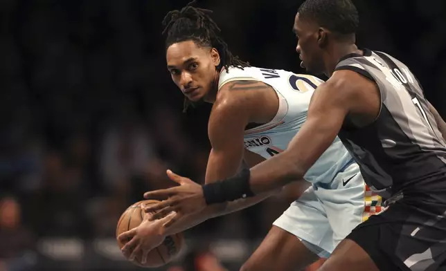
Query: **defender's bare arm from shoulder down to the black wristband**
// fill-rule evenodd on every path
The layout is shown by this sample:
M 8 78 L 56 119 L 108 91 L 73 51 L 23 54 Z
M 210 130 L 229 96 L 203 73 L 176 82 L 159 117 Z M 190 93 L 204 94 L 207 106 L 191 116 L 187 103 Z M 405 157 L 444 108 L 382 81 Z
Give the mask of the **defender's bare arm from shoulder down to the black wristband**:
M 305 124 L 289 143 L 288 149 L 251 169 L 249 184 L 254 194 L 283 187 L 292 180 L 303 178 L 306 171 L 332 144 L 346 115 L 352 111 L 366 113 L 364 110 L 370 108 L 369 97 L 363 97 L 361 88 L 357 84 L 346 82 L 346 77 L 354 77 L 363 87 L 364 84 L 372 84 L 373 88 L 375 86 L 361 75 L 351 73 L 353 72 L 338 71 L 328 82 L 321 84 L 312 97 Z

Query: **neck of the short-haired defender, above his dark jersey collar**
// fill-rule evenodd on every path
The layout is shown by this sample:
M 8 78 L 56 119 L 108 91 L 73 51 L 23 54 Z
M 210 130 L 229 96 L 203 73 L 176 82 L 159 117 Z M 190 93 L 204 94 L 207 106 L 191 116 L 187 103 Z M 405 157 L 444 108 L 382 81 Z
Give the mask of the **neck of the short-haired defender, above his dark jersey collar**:
M 341 41 L 329 46 L 323 59 L 323 62 L 325 63 L 324 74 L 328 77 L 332 76 L 334 68 L 336 68 L 339 60 L 351 53 L 362 55 L 362 50 L 359 50 L 356 44 L 354 42 L 352 43 L 352 41 Z

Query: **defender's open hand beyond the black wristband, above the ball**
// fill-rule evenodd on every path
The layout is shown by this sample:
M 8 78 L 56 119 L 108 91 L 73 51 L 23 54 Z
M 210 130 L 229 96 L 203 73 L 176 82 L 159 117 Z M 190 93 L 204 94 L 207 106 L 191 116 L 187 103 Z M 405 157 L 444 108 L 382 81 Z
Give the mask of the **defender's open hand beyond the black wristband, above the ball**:
M 202 186 L 194 183 L 189 178 L 181 177 L 172 171 L 167 171 L 170 180 L 178 183 L 179 186 L 169 189 L 150 191 L 144 194 L 144 198 L 167 198 L 157 204 L 152 204 L 144 208 L 145 212 L 154 213 L 149 219 L 159 219 L 175 212 L 175 216 L 163 227 L 169 227 L 183 216 L 201 212 L 206 208 Z

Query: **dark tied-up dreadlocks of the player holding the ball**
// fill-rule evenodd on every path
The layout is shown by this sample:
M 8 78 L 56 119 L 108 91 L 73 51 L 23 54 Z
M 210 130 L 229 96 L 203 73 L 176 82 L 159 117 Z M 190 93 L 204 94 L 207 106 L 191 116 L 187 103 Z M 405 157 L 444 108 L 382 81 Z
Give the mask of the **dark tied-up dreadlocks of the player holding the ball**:
M 216 67 L 217 71 L 222 68 L 228 70 L 229 66 L 243 68 L 249 66 L 248 62 L 242 62 L 237 56 L 233 56 L 228 49 L 228 45 L 218 36 L 220 28 L 209 17 L 212 10 L 195 8 L 196 0 L 188 3 L 181 10 L 172 10 L 168 12 L 163 19 L 163 34 L 167 32 L 166 49 L 172 44 L 181 41 L 192 40 L 197 46 L 206 46 L 217 49 L 220 54 L 220 64 Z M 184 100 L 184 112 L 193 102 Z

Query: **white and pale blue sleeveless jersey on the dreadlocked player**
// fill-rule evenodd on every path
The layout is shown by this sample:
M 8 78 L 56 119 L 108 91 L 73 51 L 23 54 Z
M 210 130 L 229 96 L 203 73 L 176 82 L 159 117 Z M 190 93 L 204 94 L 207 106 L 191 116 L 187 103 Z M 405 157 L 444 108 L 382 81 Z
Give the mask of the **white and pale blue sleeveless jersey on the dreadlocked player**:
M 276 91 L 279 108 L 271 122 L 244 133 L 244 147 L 263 158 L 271 158 L 287 148 L 289 142 L 307 119 L 308 106 L 314 89 L 323 81 L 311 75 L 301 75 L 268 68 L 229 68 L 220 74 L 218 88 L 231 81 L 252 80 L 268 84 Z M 311 183 L 330 183 L 339 171 L 353 162 L 339 138 L 323 153 L 305 174 Z

